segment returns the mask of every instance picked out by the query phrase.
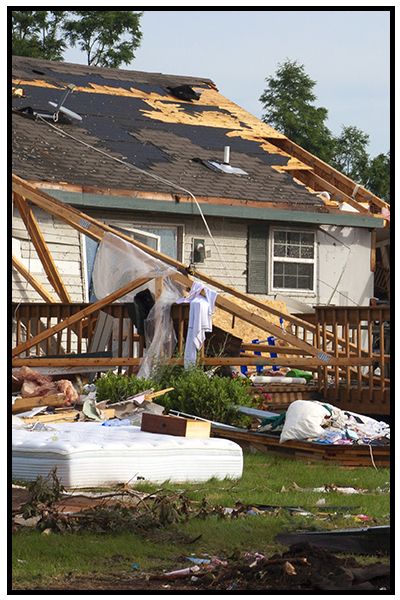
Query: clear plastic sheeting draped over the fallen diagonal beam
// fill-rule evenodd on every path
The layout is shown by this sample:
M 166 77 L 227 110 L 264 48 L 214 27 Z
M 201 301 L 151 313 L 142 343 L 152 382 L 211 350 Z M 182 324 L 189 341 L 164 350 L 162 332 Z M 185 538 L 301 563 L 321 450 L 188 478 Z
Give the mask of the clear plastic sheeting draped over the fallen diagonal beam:
M 182 296 L 183 288 L 171 279 L 178 271 L 137 246 L 107 232 L 97 251 L 93 268 L 93 286 L 101 299 L 130 281 L 150 277 L 153 281 L 123 296 L 120 302 L 133 302 L 144 288 L 154 293 L 154 279 L 162 278 L 162 292 L 156 298 L 144 325 L 146 349 L 138 376 L 149 377 L 153 367 L 170 358 L 175 350 L 176 335 L 171 319 L 171 306 Z

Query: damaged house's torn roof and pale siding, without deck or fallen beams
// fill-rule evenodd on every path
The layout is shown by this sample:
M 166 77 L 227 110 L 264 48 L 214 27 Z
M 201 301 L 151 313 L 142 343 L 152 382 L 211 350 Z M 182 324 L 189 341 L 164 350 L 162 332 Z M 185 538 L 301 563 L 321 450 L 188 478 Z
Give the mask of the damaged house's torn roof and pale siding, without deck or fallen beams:
M 25 57 L 13 57 L 12 77 L 22 90 L 12 101 L 16 175 L 292 311 L 368 305 L 374 296 L 387 205 L 224 98 L 212 81 Z M 34 214 L 68 284 L 62 299 L 92 300 L 97 243 Z M 14 266 L 19 261 L 51 294 L 15 203 L 12 234 Z M 17 268 L 13 300 L 40 300 Z

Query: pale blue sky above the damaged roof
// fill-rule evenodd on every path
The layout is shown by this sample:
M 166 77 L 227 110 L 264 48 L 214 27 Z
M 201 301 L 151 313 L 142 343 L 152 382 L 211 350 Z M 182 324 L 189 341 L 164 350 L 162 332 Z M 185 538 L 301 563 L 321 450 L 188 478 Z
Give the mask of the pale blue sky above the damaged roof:
M 265 78 L 286 58 L 317 82 L 335 135 L 355 125 L 370 137 L 371 156 L 389 150 L 389 12 L 377 10 L 145 9 L 142 44 L 124 68 L 212 79 L 257 117 Z M 77 49 L 65 60 L 85 62 Z

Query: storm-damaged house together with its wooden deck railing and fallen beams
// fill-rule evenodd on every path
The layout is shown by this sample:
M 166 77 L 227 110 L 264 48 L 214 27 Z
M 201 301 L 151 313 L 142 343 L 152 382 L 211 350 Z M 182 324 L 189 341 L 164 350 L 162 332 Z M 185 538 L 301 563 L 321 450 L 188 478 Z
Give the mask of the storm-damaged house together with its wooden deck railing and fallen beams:
M 123 265 L 141 248 L 156 304 L 159 259 L 184 289 L 195 275 L 222 292 L 213 333 L 236 348 L 221 359 L 203 347 L 202 364 L 307 367 L 324 398 L 389 411 L 389 307 L 370 307 L 388 283 L 375 278 L 383 200 L 207 79 L 13 57 L 12 84 L 13 366 L 62 354 L 68 368 L 143 366 L 143 332 L 115 303 L 139 289 Z M 121 260 L 94 286 L 110 235 Z M 170 307 L 182 356 L 187 311 Z

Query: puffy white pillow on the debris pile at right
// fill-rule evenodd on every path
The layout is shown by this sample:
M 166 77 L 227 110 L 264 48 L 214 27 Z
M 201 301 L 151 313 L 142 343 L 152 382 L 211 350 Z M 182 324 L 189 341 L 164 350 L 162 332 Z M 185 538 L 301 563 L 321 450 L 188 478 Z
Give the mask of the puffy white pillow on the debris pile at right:
M 285 424 L 279 442 L 288 440 L 306 440 L 319 438 L 324 429 L 321 427 L 330 411 L 319 402 L 296 400 L 286 412 Z

